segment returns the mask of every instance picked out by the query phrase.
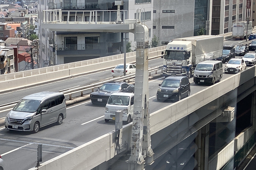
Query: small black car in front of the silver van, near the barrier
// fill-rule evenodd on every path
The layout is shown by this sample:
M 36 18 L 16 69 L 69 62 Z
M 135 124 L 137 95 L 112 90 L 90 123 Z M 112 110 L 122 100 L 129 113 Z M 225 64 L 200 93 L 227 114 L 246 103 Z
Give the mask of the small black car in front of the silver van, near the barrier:
M 190 82 L 188 77 L 166 77 L 157 90 L 157 100 L 174 100 L 180 99 L 190 95 Z

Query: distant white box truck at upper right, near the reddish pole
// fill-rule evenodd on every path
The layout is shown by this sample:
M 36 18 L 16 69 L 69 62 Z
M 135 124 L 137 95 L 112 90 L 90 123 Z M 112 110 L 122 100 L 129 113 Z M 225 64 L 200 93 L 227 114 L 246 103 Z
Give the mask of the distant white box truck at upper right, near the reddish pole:
M 248 31 L 247 31 L 247 22 L 246 21 L 233 23 L 233 25 L 232 25 L 232 38 L 245 40 L 246 39 L 246 34 L 247 34 L 248 37 L 250 36 L 250 34 L 252 34 L 252 29 L 253 29 L 253 22 L 252 21 L 250 21 L 249 24 L 248 24 Z

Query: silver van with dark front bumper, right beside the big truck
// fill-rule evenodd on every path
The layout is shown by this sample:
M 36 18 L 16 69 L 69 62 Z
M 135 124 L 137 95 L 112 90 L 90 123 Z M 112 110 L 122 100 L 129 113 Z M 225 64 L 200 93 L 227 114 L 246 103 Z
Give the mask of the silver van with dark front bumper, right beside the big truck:
M 208 60 L 196 65 L 194 71 L 194 82 L 212 83 L 221 81 L 223 66 L 221 61 Z

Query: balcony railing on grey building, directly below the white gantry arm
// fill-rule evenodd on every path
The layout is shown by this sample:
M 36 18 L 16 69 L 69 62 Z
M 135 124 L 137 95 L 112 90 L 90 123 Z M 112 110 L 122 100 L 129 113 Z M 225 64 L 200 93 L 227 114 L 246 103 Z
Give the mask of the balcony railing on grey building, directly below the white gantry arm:
M 71 50 L 99 50 L 100 43 L 93 44 L 63 44 L 57 45 L 57 51 L 71 51 Z

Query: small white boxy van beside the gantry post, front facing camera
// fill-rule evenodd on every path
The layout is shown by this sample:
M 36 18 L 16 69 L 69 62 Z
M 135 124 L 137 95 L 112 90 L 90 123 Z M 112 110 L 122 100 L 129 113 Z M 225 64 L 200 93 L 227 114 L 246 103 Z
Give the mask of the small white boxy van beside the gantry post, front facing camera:
M 130 123 L 134 111 L 134 94 L 116 92 L 111 94 L 105 108 L 105 122 L 116 119 L 116 111 L 123 111 L 122 120 Z

